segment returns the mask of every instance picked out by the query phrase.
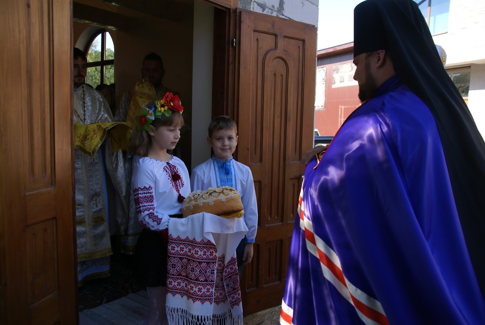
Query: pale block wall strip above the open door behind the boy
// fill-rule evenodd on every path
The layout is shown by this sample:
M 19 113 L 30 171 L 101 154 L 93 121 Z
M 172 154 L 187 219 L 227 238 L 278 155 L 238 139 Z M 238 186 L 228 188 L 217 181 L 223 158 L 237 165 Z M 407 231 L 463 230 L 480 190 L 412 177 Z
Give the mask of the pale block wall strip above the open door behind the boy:
M 319 0 L 239 0 L 239 8 L 318 27 Z

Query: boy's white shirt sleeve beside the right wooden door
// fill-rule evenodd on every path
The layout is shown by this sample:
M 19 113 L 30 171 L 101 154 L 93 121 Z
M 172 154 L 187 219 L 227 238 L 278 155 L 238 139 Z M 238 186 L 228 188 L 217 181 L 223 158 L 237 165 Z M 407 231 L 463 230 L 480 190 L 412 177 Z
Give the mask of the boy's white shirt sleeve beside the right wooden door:
M 244 208 L 244 223 L 246 223 L 246 227 L 249 230 L 246 233 L 246 242 L 254 242 L 256 231 L 258 230 L 258 203 L 256 202 L 253 174 L 249 168 L 247 169 L 244 193 L 240 193 L 240 195 L 242 207 Z

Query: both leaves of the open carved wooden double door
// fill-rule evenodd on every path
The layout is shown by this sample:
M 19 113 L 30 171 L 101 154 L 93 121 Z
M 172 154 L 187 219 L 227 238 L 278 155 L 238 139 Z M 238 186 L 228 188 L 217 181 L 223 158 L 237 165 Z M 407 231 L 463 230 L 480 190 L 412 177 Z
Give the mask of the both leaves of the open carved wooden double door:
M 225 1 L 213 1 L 228 7 L 224 42 L 236 39 L 219 67 L 229 81 L 223 112 L 238 122 L 237 159 L 253 172 L 259 205 L 242 280 L 250 314 L 283 295 L 299 164 L 313 137 L 316 28 Z M 72 2 L 2 8 L 0 323 L 76 324 Z

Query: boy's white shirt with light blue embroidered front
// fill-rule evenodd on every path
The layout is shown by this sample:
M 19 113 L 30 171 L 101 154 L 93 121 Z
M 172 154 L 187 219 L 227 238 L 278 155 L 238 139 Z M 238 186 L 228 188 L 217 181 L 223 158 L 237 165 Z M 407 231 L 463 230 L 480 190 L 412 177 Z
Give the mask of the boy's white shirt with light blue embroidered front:
M 258 229 L 258 204 L 256 201 L 256 191 L 254 189 L 253 174 L 246 165 L 230 158 L 226 161 L 226 166 L 215 166 L 215 162 L 222 162 L 217 158 L 209 158 L 204 163 L 195 167 L 190 177 L 190 187 L 193 191 L 198 189 L 206 190 L 208 188 L 215 188 L 217 186 L 232 186 L 236 188 L 241 195 L 242 206 L 244 207 L 244 215 L 242 219 L 249 231 L 246 234 L 246 242 L 254 242 L 256 239 L 256 232 Z M 227 164 L 229 162 L 229 164 Z M 226 171 L 224 168 L 230 168 L 230 177 L 226 178 Z M 224 178 L 233 182 L 234 185 L 221 182 L 220 170 L 223 170 Z M 219 181 L 218 181 L 219 179 Z

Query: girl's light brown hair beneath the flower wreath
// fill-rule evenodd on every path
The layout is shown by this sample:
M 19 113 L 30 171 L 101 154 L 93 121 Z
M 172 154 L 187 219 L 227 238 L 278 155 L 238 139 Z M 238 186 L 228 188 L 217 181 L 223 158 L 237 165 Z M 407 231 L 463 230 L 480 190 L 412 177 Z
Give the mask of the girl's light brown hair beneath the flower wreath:
M 146 107 L 150 107 L 152 103 L 148 103 Z M 183 126 L 183 117 L 182 114 L 178 112 L 172 112 L 170 116 L 165 116 L 162 114 L 161 118 L 155 118 L 151 122 L 151 126 L 156 130 L 161 126 Z M 133 130 L 131 137 L 129 139 L 129 151 L 133 152 L 134 154 L 139 155 L 140 157 L 146 157 L 148 155 L 148 151 L 152 145 L 151 136 L 148 134 L 147 131 L 141 130 L 138 131 L 137 128 Z

